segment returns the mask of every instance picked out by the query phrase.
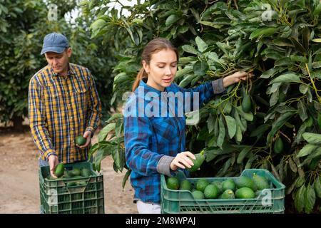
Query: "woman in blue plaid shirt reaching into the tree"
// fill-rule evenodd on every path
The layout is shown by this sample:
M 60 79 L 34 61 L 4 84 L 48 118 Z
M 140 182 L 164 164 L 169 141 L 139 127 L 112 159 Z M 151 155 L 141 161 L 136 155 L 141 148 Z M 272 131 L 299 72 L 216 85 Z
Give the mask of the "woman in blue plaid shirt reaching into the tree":
M 160 174 L 171 176 L 178 168 L 191 167 L 191 159 L 195 159 L 192 152 L 185 151 L 185 117 L 178 114 L 188 105 L 198 108 L 207 103 L 226 87 L 246 80 L 248 73 L 237 72 L 185 89 L 173 83 L 178 50 L 170 41 L 153 39 L 142 57 L 143 68 L 123 111 L 126 164 L 132 170 L 138 212 L 161 213 Z

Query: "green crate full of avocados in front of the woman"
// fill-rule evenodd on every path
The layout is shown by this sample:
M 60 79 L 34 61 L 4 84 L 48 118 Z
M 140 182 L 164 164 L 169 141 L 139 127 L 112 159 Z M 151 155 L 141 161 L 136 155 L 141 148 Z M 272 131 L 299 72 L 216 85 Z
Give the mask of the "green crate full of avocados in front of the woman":
M 243 170 L 240 177 L 161 175 L 163 214 L 277 214 L 284 211 L 285 185 L 268 170 Z

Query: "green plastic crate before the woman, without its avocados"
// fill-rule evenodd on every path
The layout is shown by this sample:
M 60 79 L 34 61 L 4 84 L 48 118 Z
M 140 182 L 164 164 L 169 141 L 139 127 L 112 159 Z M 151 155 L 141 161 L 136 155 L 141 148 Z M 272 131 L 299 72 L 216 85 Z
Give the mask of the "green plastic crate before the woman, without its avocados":
M 261 169 L 244 170 L 241 176 L 252 177 L 253 173 L 265 177 L 270 183 L 269 190 L 263 190 L 255 199 L 194 199 L 188 190 L 170 190 L 165 176 L 161 175 L 161 212 L 162 214 L 253 214 L 285 211 L 285 185 L 268 171 Z M 238 177 L 187 178 L 192 184 L 199 179 L 208 182 L 215 180 L 237 179 Z

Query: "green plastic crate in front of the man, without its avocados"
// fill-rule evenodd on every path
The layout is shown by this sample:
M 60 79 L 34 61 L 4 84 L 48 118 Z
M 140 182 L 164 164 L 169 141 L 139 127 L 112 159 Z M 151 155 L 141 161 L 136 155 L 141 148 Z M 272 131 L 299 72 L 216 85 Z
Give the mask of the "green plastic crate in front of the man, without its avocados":
M 44 214 L 104 214 L 103 174 L 95 172 L 90 162 L 65 164 L 66 170 L 86 167 L 89 177 L 47 180 L 49 166 L 39 169 L 41 212 Z M 71 182 L 83 185 L 67 186 Z M 71 185 L 71 184 L 69 184 Z

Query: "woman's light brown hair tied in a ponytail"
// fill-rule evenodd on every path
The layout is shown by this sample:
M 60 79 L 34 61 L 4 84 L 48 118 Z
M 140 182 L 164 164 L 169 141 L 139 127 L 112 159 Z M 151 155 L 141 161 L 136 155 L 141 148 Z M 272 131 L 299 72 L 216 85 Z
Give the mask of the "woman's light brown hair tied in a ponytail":
M 143 49 L 142 60 L 149 65 L 149 63 L 151 63 L 151 56 L 153 55 L 153 53 L 157 53 L 158 51 L 168 50 L 168 49 L 175 51 L 177 56 L 177 61 L 178 61 L 178 49 L 175 48 L 175 46 L 173 46 L 173 44 L 170 43 L 170 41 L 166 40 L 165 38 L 154 38 L 153 40 L 151 40 Z M 133 83 L 133 91 L 136 90 L 141 80 L 147 77 L 148 77 L 148 74 L 145 72 L 145 69 L 142 67 L 136 76 L 136 80 Z

